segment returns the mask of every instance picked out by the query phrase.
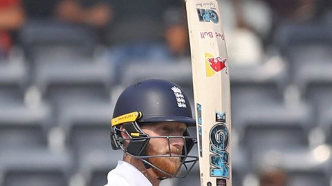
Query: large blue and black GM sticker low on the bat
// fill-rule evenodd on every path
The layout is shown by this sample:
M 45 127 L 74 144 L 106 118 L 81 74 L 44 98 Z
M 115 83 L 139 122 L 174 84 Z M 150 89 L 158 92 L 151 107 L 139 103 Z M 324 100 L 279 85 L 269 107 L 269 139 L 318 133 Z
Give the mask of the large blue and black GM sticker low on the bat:
M 210 176 L 230 178 L 229 134 L 224 123 L 214 125 L 210 131 L 210 152 L 214 154 L 210 155 Z

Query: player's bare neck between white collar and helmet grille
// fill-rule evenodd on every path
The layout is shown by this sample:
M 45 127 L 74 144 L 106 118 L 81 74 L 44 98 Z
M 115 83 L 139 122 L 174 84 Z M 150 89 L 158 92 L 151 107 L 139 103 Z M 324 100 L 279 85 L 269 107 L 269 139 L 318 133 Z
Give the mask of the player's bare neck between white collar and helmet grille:
M 153 186 L 159 186 L 161 180 L 158 179 L 158 176 L 154 170 L 151 168 L 147 169 L 140 159 L 124 154 L 123 161 L 136 167 L 140 172 L 142 172 L 142 174 L 150 181 Z

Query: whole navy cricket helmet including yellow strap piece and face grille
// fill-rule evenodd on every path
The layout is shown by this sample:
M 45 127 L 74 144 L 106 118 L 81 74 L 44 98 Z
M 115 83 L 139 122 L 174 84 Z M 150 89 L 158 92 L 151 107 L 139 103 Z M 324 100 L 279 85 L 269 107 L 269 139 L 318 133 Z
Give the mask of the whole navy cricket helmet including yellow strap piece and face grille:
M 167 178 L 184 178 L 190 172 L 196 161 L 197 156 L 189 154 L 196 143 L 196 138 L 190 136 L 185 130 L 183 136 L 153 136 L 152 138 L 165 138 L 168 141 L 171 138 L 181 138 L 184 143 L 182 154 L 177 155 L 181 158 L 181 165 L 185 167 L 184 174 L 167 174 L 149 162 L 149 158 L 158 156 L 147 156 L 145 149 L 151 137 L 141 130 L 140 126 L 145 123 L 174 122 L 185 123 L 187 127 L 194 126 L 195 120 L 192 118 L 192 110 L 187 95 L 181 87 L 175 83 L 149 79 L 134 83 L 120 94 L 111 120 L 111 145 L 113 149 L 122 149 L 130 156 L 139 158 L 145 163 L 146 167 L 154 167 Z M 126 133 L 129 138 L 123 138 L 122 133 Z M 124 141 L 129 141 L 124 145 Z M 169 144 L 170 145 L 170 144 Z M 170 146 L 169 146 L 170 148 Z M 165 157 L 165 154 L 160 154 Z M 172 158 L 174 155 L 169 154 Z M 163 179 L 163 178 L 160 178 Z

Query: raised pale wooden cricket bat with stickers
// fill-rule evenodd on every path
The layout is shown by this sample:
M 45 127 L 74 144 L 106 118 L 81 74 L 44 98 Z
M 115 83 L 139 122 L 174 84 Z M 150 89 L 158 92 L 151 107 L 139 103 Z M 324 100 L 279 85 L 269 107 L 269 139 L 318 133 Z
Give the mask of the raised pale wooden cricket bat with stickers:
M 230 76 L 216 0 L 186 0 L 201 186 L 232 185 Z

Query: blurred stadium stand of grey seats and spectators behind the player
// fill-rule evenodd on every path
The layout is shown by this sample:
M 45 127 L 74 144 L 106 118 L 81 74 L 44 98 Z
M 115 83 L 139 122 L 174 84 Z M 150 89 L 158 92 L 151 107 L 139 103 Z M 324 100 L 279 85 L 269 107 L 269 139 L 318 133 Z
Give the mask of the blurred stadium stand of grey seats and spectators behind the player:
M 331 186 L 331 0 L 219 3 L 232 185 Z M 0 0 L 0 185 L 106 184 L 114 103 L 149 78 L 194 107 L 184 1 Z M 199 184 L 198 165 L 162 182 Z

